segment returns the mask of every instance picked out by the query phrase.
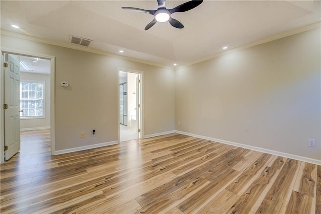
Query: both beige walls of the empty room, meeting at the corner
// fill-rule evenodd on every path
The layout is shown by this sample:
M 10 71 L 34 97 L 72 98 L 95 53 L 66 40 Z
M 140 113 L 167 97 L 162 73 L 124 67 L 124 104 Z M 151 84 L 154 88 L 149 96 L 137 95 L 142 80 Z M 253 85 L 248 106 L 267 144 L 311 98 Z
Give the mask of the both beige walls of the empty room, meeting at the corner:
M 175 72 L 4 35 L 1 44 L 56 57 L 56 151 L 117 140 L 118 68 L 127 68 L 144 72 L 145 135 L 177 129 L 321 160 L 320 35 L 310 30 Z

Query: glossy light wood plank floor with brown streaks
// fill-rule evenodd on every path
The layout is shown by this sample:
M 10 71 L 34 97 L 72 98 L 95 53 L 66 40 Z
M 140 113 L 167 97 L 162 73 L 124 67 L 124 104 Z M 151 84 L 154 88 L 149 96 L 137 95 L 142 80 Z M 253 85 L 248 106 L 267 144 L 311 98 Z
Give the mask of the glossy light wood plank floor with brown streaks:
M 52 157 L 48 131 L 22 146 L 1 213 L 321 213 L 320 166 L 248 149 L 169 134 Z

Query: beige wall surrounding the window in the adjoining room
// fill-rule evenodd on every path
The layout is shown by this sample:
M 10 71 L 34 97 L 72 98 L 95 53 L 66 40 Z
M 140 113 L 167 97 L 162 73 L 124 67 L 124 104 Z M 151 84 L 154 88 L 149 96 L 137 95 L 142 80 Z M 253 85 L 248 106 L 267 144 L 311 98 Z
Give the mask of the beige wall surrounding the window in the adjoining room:
M 44 118 L 20 119 L 20 129 L 37 129 L 50 127 L 50 74 L 20 72 L 20 80 L 43 81 L 44 90 Z

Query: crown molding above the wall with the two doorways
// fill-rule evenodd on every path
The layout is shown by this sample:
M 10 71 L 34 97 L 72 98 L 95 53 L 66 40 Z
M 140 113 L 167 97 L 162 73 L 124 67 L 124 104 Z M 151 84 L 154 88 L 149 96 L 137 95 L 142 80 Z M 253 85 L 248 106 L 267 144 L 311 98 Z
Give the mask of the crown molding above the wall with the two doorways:
M 49 40 L 49 39 L 43 39 L 43 38 L 40 38 L 40 37 L 20 34 L 20 33 L 16 33 L 16 32 L 13 32 L 13 31 L 8 31 L 8 30 L 5 30 L 5 29 L 0 29 L 0 30 L 1 30 L 1 35 L 6 35 L 6 36 L 10 36 L 10 37 L 16 37 L 16 38 L 19 38 L 19 39 L 25 39 L 25 40 L 30 40 L 30 41 L 34 41 L 34 42 L 40 42 L 40 43 L 44 43 L 44 44 L 48 44 L 48 45 L 55 45 L 55 46 L 59 46 L 59 47 L 75 49 L 75 50 L 79 50 L 79 51 L 85 51 L 85 52 L 94 53 L 94 54 L 100 54 L 100 55 L 104 55 L 104 56 L 110 56 L 110 57 L 113 57 L 113 58 L 118 58 L 118 59 L 128 60 L 128 61 L 132 61 L 132 62 L 152 65 L 152 66 L 156 66 L 156 67 L 173 69 L 173 67 L 165 66 L 165 65 L 162 65 L 162 64 L 157 64 L 157 63 L 153 63 L 153 62 L 145 61 L 145 60 L 139 60 L 139 59 L 132 58 L 132 57 L 119 56 L 119 55 L 108 53 L 108 52 L 105 52 L 105 51 L 100 51 L 100 50 L 96 50 L 96 49 L 92 49 L 92 48 L 78 46 L 76 44 L 69 44 L 69 43 L 65 43 L 65 42 L 59 42 L 59 41 L 54 41 L 54 40 Z

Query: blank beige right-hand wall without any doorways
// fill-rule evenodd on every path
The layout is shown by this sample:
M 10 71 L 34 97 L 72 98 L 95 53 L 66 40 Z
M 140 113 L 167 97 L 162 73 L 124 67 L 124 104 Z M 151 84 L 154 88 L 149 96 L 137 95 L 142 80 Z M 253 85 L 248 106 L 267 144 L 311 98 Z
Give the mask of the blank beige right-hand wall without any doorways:
M 318 28 L 177 68 L 176 129 L 321 160 L 320 36 Z

